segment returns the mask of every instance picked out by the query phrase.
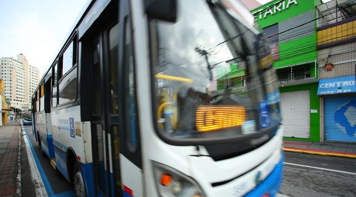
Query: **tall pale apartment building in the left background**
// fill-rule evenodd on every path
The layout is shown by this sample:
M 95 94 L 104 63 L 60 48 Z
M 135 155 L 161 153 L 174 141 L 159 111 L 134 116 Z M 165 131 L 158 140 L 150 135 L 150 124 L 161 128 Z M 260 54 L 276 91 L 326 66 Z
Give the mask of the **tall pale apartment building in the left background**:
M 5 83 L 5 97 L 11 106 L 21 110 L 31 108 L 31 96 L 39 81 L 39 70 L 30 65 L 24 54 L 1 58 L 0 78 Z

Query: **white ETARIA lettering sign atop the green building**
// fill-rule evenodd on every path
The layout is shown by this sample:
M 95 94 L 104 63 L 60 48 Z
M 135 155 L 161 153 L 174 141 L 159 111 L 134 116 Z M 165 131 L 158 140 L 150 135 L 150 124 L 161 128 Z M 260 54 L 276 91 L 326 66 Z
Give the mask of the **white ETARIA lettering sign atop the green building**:
M 288 0 L 288 1 L 285 0 L 285 1 L 280 2 L 279 4 L 277 2 L 276 4 L 266 7 L 265 9 L 262 8 L 255 12 L 252 12 L 252 15 L 255 16 L 255 20 L 257 20 L 257 16 L 259 19 L 262 19 L 262 17 L 263 18 L 267 17 L 268 14 L 273 15 L 273 14 L 276 14 L 277 11 L 281 12 L 285 9 L 288 9 L 293 4 L 298 5 L 297 0 Z

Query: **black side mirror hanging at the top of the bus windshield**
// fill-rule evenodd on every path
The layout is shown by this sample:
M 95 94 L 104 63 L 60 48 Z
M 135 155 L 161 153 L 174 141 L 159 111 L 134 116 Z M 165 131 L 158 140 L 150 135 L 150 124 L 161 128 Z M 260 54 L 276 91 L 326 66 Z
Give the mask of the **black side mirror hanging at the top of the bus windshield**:
M 143 0 L 146 14 L 152 18 L 175 22 L 177 0 Z

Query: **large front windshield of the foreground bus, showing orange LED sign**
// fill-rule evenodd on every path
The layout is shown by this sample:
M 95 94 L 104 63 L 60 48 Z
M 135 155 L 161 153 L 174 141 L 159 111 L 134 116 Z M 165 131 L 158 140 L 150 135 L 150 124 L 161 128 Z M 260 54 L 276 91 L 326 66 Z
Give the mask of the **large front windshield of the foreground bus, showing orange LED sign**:
M 157 127 L 165 137 L 239 138 L 278 126 L 269 49 L 220 2 L 178 1 L 176 23 L 151 22 Z

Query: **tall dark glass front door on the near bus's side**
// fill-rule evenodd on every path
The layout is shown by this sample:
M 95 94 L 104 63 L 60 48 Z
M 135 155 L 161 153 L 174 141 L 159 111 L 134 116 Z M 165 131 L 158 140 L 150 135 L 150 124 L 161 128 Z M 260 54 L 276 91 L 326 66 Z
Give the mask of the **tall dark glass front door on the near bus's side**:
M 117 4 L 116 1 L 113 2 Z M 111 5 L 107 9 L 117 9 L 117 7 Z M 104 12 L 115 13 L 114 10 Z M 122 196 L 116 75 L 118 24 L 117 16 L 107 18 L 102 18 L 100 27 L 83 42 L 87 55 L 86 65 L 90 65 L 88 67 L 90 69 L 85 72 L 90 76 L 86 82 L 91 83 L 87 85 L 90 86 L 87 94 L 91 97 L 91 102 L 88 104 L 90 104 L 91 112 L 89 113 L 91 113 L 92 120 L 95 196 L 103 197 Z

